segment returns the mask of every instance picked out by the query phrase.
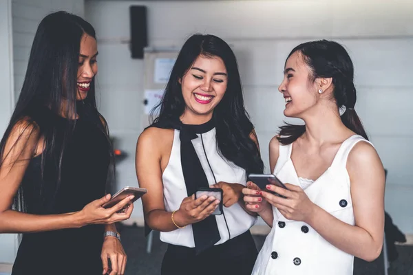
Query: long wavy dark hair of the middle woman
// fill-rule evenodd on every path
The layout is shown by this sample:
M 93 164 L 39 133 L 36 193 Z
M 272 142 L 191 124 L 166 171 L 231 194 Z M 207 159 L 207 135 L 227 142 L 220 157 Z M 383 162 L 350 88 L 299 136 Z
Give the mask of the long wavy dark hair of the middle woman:
M 213 111 L 218 152 L 237 166 L 244 168 L 247 175 L 262 173 L 264 164 L 260 151 L 250 138 L 250 134 L 255 135 L 255 132 L 244 107 L 237 60 L 231 47 L 217 36 L 194 34 L 184 43 L 173 65 L 165 94 L 160 104 L 152 110 L 154 113 L 160 108 L 160 113 L 153 123 L 176 120 L 184 113 L 185 102 L 178 80 L 188 72 L 198 56 L 221 58 L 228 72 L 226 92 Z

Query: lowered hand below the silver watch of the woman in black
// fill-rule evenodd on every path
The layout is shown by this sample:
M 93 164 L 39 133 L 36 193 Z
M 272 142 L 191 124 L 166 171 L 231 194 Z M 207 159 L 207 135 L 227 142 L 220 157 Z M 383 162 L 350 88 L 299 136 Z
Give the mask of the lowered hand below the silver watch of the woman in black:
M 109 272 L 107 259 L 110 259 L 112 271 L 109 275 L 125 274 L 127 256 L 123 250 L 122 243 L 113 236 L 105 236 L 103 241 L 102 254 L 100 255 L 103 262 L 103 274 Z

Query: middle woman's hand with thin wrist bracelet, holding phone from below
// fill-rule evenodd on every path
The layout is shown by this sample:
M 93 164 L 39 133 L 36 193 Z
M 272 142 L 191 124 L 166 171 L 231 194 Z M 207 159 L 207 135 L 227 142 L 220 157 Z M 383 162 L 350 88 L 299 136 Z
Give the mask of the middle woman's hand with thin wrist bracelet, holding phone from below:
M 195 199 L 195 195 L 183 199 L 180 208 L 173 214 L 173 220 L 179 226 L 197 223 L 207 218 L 215 211 L 220 200 L 206 195 Z

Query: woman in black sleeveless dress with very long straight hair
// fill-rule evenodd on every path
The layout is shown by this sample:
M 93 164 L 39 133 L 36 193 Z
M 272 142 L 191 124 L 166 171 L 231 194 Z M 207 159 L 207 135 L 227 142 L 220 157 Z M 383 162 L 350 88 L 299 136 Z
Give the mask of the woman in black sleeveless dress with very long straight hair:
M 0 232 L 22 233 L 12 274 L 123 274 L 114 223 L 128 197 L 103 208 L 113 157 L 96 109 L 92 25 L 66 12 L 39 24 L 19 100 L 0 143 Z M 118 238 L 116 238 L 116 236 Z

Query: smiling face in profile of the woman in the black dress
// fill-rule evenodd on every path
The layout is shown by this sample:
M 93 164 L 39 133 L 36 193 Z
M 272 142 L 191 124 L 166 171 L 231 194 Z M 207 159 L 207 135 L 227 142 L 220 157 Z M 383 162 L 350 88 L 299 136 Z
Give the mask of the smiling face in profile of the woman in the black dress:
M 83 34 L 81 39 L 81 49 L 79 54 L 79 65 L 77 74 L 76 99 L 83 100 L 90 89 L 90 83 L 98 73 L 96 56 L 98 55 L 98 45 L 96 40 L 88 34 Z

